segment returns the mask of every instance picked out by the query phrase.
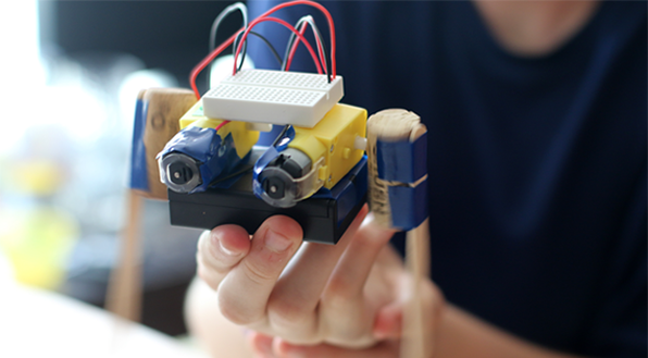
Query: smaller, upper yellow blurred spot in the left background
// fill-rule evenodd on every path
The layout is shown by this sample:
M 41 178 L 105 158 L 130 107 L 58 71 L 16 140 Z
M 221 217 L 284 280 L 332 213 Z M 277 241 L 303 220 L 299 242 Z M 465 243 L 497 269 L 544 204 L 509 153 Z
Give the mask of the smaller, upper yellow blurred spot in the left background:
M 59 165 L 49 160 L 30 160 L 14 164 L 14 182 L 22 193 L 34 196 L 53 194 L 63 181 Z

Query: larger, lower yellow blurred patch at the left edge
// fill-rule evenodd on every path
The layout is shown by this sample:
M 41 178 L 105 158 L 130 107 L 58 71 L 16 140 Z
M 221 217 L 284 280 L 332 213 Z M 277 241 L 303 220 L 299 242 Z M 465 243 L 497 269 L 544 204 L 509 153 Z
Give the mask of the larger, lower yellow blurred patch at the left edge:
M 55 288 L 77 235 L 74 219 L 53 208 L 0 212 L 0 248 L 24 284 Z

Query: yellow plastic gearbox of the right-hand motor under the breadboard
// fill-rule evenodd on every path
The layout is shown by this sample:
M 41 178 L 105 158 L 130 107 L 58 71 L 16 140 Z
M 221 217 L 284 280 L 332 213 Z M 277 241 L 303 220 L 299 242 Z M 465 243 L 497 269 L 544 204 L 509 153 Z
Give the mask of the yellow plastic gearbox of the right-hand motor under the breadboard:
M 348 104 L 336 104 L 312 128 L 295 127 L 295 139 L 289 147 L 307 153 L 314 163 L 324 157 L 319 176 L 331 189 L 360 161 L 363 150 L 353 149 L 357 136 L 366 136 L 366 110 Z M 323 171 L 323 172 L 322 172 Z

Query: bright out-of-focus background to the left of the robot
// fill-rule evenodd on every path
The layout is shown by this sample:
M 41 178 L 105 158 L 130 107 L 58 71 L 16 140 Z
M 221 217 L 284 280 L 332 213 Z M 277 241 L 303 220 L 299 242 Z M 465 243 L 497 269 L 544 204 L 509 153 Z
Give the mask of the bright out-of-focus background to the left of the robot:
M 211 24 L 229 3 L 0 5 L 4 271 L 21 283 L 104 305 L 125 221 L 136 96 L 148 87 L 187 88 L 190 70 L 208 52 Z M 230 17 L 221 34 L 240 25 Z M 141 234 L 142 323 L 183 334 L 199 232 L 170 226 L 166 202 L 147 200 Z

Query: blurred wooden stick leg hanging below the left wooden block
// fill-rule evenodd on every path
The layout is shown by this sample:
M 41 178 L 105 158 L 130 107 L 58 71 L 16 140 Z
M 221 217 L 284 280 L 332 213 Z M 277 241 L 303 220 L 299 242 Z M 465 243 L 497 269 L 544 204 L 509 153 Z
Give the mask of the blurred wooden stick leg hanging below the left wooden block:
M 126 226 L 121 235 L 119 264 L 113 269 L 105 296 L 105 308 L 124 319 L 138 322 L 141 316 L 141 255 L 139 222 L 142 197 L 127 194 Z

